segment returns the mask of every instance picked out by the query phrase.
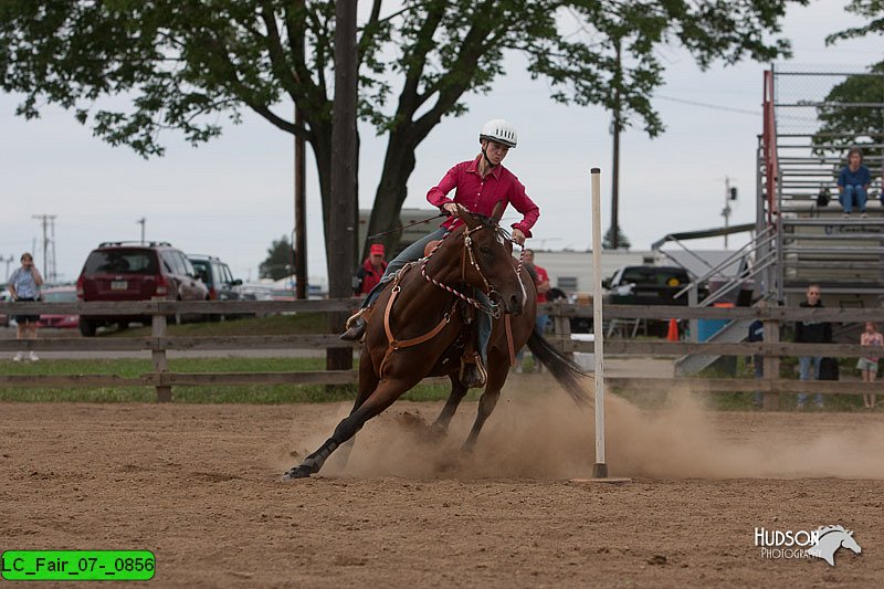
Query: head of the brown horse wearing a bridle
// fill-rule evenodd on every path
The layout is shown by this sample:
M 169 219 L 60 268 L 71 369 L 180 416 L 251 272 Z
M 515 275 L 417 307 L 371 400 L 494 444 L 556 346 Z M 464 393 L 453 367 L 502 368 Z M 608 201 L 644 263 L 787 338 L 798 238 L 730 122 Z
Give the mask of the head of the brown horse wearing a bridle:
M 513 266 L 513 242 L 498 224 L 503 209 L 503 202 L 497 202 L 491 217 L 484 217 L 459 207 L 457 215 L 465 225 L 463 280 L 507 313 L 518 315 L 525 305 L 525 286 Z

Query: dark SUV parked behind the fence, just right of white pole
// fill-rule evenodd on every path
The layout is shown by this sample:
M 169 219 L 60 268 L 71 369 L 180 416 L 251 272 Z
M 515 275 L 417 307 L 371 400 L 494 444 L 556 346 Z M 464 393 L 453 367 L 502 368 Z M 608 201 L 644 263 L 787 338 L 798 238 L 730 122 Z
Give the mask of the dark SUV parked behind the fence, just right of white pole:
M 691 283 L 687 271 L 678 266 L 623 266 L 602 285 L 613 305 L 686 305 L 687 295 L 675 293 Z

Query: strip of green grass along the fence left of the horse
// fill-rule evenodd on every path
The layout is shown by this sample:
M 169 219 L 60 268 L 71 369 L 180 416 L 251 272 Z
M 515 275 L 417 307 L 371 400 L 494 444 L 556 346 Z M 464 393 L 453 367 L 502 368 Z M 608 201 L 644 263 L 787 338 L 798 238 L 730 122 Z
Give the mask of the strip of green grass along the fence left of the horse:
M 283 372 L 323 370 L 324 358 L 178 358 L 169 360 L 172 372 Z M 117 375 L 136 378 L 152 370 L 147 359 L 0 361 L 0 375 Z M 448 398 L 448 385 L 422 383 L 402 396 L 411 401 Z M 354 386 L 235 385 L 175 387 L 175 400 L 186 403 L 301 403 L 351 401 Z M 40 387 L 0 388 L 0 401 L 19 402 L 156 402 L 152 387 Z M 467 399 L 476 399 L 473 391 Z

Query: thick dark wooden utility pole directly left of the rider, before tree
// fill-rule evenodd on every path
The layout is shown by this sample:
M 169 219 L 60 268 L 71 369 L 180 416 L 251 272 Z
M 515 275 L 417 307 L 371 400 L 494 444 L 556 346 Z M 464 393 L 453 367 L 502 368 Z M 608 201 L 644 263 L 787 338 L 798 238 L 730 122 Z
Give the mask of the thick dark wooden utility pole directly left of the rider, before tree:
M 335 103 L 332 112 L 332 214 L 326 255 L 328 294 L 352 295 L 356 250 L 356 0 L 335 2 Z M 329 314 L 329 329 L 344 330 L 346 313 Z M 329 348 L 326 369 L 352 368 L 351 348 Z

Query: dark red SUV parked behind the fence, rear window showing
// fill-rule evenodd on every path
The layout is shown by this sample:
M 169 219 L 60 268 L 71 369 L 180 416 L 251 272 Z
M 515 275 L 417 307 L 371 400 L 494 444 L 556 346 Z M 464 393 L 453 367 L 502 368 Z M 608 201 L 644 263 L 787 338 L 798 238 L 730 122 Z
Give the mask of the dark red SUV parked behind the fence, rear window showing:
M 187 256 L 166 242 L 106 242 L 90 253 L 76 281 L 76 294 L 92 301 L 149 301 L 162 296 L 170 301 L 208 301 L 209 290 L 197 277 Z M 150 317 L 80 317 L 80 333 L 95 335 L 102 325 L 129 322 L 150 323 Z

